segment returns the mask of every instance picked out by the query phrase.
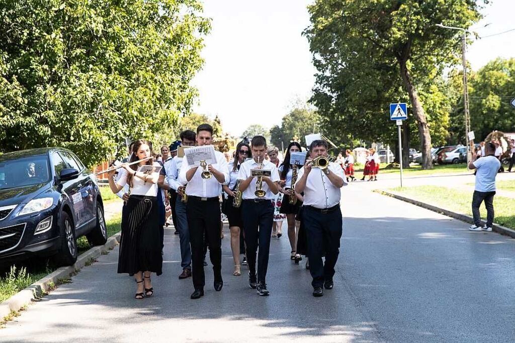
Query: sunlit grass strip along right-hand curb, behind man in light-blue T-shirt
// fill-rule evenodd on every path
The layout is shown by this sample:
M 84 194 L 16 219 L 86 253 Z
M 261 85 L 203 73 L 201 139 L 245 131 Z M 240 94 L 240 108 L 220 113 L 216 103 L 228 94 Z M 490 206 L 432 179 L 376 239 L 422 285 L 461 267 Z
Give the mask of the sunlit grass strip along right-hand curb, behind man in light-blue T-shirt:
M 472 192 L 454 190 L 441 186 L 417 186 L 387 189 L 393 193 L 420 202 L 447 209 L 449 211 L 472 215 Z M 515 199 L 503 196 L 493 198 L 495 211 L 494 223 L 515 229 Z M 486 219 L 485 205 L 480 207 L 481 218 Z

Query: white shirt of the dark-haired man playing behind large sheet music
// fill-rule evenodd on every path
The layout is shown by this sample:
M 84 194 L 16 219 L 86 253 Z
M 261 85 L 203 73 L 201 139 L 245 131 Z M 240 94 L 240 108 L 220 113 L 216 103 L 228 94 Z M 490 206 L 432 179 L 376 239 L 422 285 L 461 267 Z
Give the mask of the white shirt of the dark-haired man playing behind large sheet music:
M 216 163 L 212 164 L 213 168 L 224 174 L 224 181 L 220 184 L 218 180 L 212 175 L 211 178 L 202 178 L 202 167 L 198 167 L 190 182 L 186 179 L 186 172 L 192 167 L 187 163 L 181 164 L 179 173 L 179 183 L 186 185 L 186 195 L 200 196 L 200 197 L 215 197 L 219 196 L 222 191 L 222 184 L 229 180 L 229 168 L 227 167 L 227 160 L 224 154 L 215 151 Z

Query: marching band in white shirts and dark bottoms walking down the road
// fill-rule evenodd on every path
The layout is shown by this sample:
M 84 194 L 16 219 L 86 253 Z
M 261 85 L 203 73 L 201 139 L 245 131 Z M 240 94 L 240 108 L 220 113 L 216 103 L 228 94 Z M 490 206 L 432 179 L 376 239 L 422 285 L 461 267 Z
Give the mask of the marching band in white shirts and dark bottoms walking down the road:
M 196 133 L 190 130 L 182 132 L 180 143 L 183 147 L 209 148 L 212 139 L 213 128 L 202 124 Z M 211 147 L 211 153 L 212 150 Z M 109 185 L 114 193 L 128 186 L 127 194 L 122 195 L 124 209 L 118 273 L 134 276 L 135 298 L 152 296 L 154 290 L 150 274 L 162 274 L 160 232 L 164 220 L 161 216 L 164 219 L 164 208 L 168 205 L 166 196 L 164 201 L 158 202 L 162 190 L 165 194 L 171 190 L 177 194 L 174 224 L 179 232 L 181 250 L 182 273 L 179 279 L 192 277 L 194 292 L 191 299 L 204 296 L 207 249 L 213 265 L 215 291 L 221 291 L 224 285 L 221 274 L 221 212 L 227 215 L 231 231 L 233 275 L 242 274 L 240 258 L 245 254 L 249 287 L 260 296 L 270 294 L 266 275 L 274 206 L 279 192 L 284 194 L 280 212 L 286 214 L 288 220 L 291 259 L 296 263 L 302 259 L 296 251 L 300 220 L 302 245 L 305 247 L 299 247 L 299 250 L 306 254 L 310 264 L 313 296 L 322 296 L 323 288 L 331 290 L 342 234 L 340 188 L 346 184 L 346 177 L 342 168 L 328 156 L 326 140 L 311 142 L 303 165 L 298 161 L 291 164 L 290 153 L 300 151 L 299 143 L 290 144 L 278 169 L 278 163 L 265 158 L 267 142 L 265 137 L 258 135 L 252 138 L 250 145 L 238 143 L 234 159 L 229 164 L 221 152 L 214 151 L 214 155 L 204 157 L 203 150 L 194 156 L 191 151 L 181 151 L 181 148 L 175 157 L 160 164 L 153 161 L 149 142 L 135 141 L 129 163 L 120 166 L 123 170 L 120 176 L 115 179 L 115 170 L 108 171 Z M 325 262 L 322 261 L 323 256 Z

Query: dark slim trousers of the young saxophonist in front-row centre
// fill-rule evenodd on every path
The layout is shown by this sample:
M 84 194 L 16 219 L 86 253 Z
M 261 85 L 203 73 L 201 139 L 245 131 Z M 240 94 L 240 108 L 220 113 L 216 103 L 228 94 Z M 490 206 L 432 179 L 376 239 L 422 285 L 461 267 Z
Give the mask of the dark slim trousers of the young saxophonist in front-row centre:
M 258 281 L 265 282 L 268 269 L 268 255 L 270 254 L 270 237 L 272 236 L 272 202 L 262 201 L 255 203 L 252 200 L 244 200 L 242 202 L 242 217 L 245 243 L 247 244 L 247 264 L 250 274 L 256 274 L 256 251 L 259 251 Z

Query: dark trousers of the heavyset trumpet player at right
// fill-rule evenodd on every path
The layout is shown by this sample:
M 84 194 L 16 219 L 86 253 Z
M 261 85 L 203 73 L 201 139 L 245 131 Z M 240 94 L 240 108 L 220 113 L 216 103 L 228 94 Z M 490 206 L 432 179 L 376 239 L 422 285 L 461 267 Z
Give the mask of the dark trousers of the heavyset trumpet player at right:
M 311 206 L 304 206 L 302 221 L 306 229 L 307 257 L 313 287 L 322 287 L 325 280 L 333 280 L 334 266 L 338 260 L 342 218 L 340 208 L 321 213 Z M 322 255 L 325 251 L 325 264 Z

